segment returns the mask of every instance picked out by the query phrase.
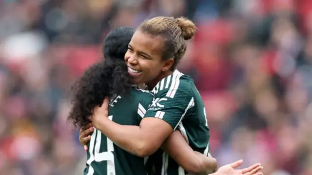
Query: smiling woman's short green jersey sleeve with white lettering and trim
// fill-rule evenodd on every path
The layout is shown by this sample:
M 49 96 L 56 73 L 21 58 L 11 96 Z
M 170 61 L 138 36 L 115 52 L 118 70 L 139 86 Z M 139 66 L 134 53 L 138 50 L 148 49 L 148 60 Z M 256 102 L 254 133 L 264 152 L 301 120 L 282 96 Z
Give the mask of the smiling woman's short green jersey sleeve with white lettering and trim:
M 194 106 L 189 83 L 158 91 L 144 117 L 160 118 L 176 130 L 186 112 Z

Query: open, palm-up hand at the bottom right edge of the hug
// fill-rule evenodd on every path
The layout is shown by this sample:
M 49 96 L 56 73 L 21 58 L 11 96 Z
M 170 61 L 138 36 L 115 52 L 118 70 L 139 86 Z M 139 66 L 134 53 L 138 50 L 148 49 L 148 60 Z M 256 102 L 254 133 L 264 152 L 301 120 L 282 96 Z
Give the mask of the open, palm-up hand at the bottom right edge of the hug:
M 238 160 L 234 163 L 220 167 L 215 173 L 211 175 L 263 175 L 261 172 L 259 172 L 263 169 L 260 163 L 241 170 L 235 170 L 235 168 L 241 166 L 242 164 L 243 160 Z

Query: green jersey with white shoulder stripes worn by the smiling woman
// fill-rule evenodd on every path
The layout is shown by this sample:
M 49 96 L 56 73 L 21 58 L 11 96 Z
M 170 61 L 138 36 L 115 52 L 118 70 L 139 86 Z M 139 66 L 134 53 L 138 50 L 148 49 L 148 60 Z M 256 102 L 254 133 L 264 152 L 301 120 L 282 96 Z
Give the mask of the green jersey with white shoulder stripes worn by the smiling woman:
M 209 153 L 210 132 L 206 112 L 194 81 L 179 71 L 157 83 L 151 91 L 154 99 L 144 117 L 157 117 L 179 129 L 186 141 L 204 155 Z M 187 174 L 170 156 L 158 150 L 146 163 L 153 175 Z

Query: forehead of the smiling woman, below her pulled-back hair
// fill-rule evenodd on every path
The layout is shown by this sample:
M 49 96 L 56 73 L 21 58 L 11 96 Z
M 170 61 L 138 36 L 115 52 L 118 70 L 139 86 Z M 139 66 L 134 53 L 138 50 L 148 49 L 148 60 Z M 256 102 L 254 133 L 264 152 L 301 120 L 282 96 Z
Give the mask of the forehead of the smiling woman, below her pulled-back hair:
M 154 36 L 140 30 L 135 32 L 130 41 L 133 49 L 151 55 L 162 53 L 163 44 L 164 39 L 161 36 Z

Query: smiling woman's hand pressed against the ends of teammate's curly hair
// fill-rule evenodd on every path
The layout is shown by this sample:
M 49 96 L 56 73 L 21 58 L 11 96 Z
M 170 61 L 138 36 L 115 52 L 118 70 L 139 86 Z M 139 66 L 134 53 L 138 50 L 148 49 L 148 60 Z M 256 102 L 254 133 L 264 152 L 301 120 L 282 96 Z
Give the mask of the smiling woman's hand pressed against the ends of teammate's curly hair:
M 99 128 L 100 121 L 103 120 L 103 117 L 108 117 L 108 102 L 108 98 L 105 97 L 102 105 L 100 107 L 95 107 L 92 116 L 88 118 L 97 129 Z

